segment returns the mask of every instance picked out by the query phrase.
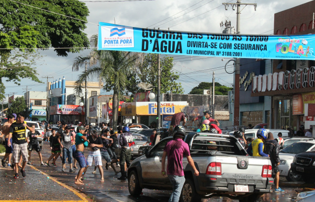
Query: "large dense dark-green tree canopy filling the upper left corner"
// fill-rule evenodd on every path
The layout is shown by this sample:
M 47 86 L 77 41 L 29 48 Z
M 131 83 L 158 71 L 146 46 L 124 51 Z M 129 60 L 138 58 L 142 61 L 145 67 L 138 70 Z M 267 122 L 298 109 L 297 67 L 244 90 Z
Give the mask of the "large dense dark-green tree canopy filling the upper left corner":
M 79 0 L 19 2 L 0 1 L 0 48 L 65 48 L 55 51 L 58 56 L 67 56 L 69 52 L 76 53 L 82 50 L 71 47 L 89 46 L 87 34 L 82 31 L 86 28 L 87 22 L 84 21 L 87 21 L 89 15 L 89 9 L 84 2 Z

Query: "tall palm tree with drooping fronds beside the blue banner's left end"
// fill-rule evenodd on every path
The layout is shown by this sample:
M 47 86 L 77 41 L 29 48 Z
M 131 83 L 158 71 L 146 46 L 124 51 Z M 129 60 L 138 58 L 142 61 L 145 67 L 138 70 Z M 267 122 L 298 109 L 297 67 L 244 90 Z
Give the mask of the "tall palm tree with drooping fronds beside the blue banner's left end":
M 94 47 L 97 46 L 97 34 L 91 37 L 90 43 Z M 75 82 L 75 91 L 78 95 L 82 94 L 86 80 L 94 78 L 97 78 L 100 83 L 105 83 L 105 90 L 114 90 L 113 128 L 116 128 L 119 101 L 126 89 L 127 76 L 142 61 L 142 53 L 93 49 L 88 56 L 76 57 L 73 62 L 72 71 L 78 71 L 86 62 L 90 64 L 90 68 L 80 74 Z

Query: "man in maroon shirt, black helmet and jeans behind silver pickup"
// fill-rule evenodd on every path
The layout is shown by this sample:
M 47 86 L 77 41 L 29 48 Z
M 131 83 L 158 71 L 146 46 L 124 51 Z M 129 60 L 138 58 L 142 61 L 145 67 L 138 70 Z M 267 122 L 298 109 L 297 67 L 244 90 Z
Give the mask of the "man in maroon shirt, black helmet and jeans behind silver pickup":
M 189 146 L 183 141 L 186 135 L 184 126 L 177 125 L 173 130 L 173 140 L 166 143 L 162 156 L 161 174 L 165 175 L 165 159 L 167 156 L 167 176 L 173 185 L 173 191 L 169 202 L 179 202 L 184 183 L 185 175 L 183 168 L 183 155 L 185 154 L 189 165 L 194 170 L 194 175 L 198 176 L 199 171 L 196 169 L 189 153 Z

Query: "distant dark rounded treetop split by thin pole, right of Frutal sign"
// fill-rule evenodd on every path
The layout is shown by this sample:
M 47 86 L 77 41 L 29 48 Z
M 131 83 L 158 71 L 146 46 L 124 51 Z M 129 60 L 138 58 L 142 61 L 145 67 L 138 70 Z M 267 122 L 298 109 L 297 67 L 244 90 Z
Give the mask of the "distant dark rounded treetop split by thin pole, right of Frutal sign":
M 210 89 L 210 87 L 212 87 L 212 83 L 201 82 L 198 86 L 193 87 L 189 94 L 201 95 L 204 89 Z M 230 90 L 233 90 L 233 87 L 226 87 L 215 82 L 215 95 L 227 95 L 227 92 Z

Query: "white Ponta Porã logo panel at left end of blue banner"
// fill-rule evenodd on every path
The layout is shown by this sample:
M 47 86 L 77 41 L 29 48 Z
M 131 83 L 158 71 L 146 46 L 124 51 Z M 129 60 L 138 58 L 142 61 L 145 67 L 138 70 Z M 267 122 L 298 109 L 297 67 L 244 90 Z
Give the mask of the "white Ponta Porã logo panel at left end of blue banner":
M 133 28 L 125 26 L 101 27 L 102 48 L 133 48 Z

